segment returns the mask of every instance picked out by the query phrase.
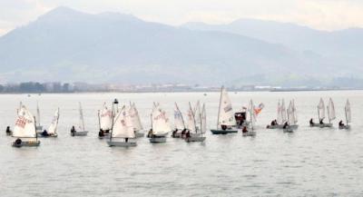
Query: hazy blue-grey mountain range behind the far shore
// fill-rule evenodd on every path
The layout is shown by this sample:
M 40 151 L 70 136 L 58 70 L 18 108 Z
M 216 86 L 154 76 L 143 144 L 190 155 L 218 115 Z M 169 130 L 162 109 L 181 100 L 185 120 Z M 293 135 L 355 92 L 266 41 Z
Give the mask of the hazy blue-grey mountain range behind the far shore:
M 359 28 L 326 32 L 252 19 L 172 26 L 58 7 L 0 37 L 0 80 L 356 84 L 363 77 L 362 38 Z

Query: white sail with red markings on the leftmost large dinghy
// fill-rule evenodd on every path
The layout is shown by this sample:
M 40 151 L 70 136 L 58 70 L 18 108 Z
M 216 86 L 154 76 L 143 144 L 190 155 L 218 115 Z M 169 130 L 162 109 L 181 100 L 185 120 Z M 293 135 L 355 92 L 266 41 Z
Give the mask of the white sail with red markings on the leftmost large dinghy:
M 36 137 L 34 115 L 24 105 L 19 109 L 13 137 Z

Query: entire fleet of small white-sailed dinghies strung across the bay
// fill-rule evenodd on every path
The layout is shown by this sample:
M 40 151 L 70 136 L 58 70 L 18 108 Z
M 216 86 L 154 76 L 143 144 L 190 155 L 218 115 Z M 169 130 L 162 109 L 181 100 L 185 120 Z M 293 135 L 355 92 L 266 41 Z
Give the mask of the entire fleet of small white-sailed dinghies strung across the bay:
M 142 121 L 140 115 L 136 109 L 135 103 L 130 105 L 123 105 L 121 109 L 117 106 L 115 108 L 113 102 L 112 109 L 109 109 L 106 104 L 103 104 L 103 109 L 98 112 L 99 128 L 100 132 L 109 133 L 109 140 L 107 141 L 109 146 L 121 146 L 130 147 L 136 146 L 136 139 L 144 135 L 142 130 Z M 261 107 L 260 107 L 261 105 Z M 258 107 L 253 104 L 250 100 L 248 108 L 246 109 L 246 121 L 249 122 L 248 126 L 244 125 L 242 130 L 243 136 L 255 136 L 256 135 L 256 114 L 260 113 L 260 109 L 263 108 L 261 103 Z M 179 109 L 177 103 L 174 103 L 174 132 L 172 137 L 184 138 L 185 142 L 204 142 L 206 140 L 205 134 L 207 131 L 206 121 L 206 107 L 205 103 L 198 101 L 193 107 L 191 103 L 188 105 L 187 120 L 184 122 L 182 112 Z M 319 123 L 313 123 L 310 120 L 310 126 L 312 127 L 332 127 L 333 121 L 336 119 L 335 105 L 331 98 L 329 98 L 328 106 L 322 98 L 318 104 L 318 117 Z M 329 123 L 324 123 L 326 117 L 326 111 L 328 115 Z M 292 133 L 294 130 L 299 128 L 298 125 L 298 114 L 295 106 L 295 101 L 290 100 L 289 106 L 286 108 L 285 100 L 281 99 L 278 103 L 277 119 L 273 122 L 274 124 L 269 125 L 271 129 L 282 128 L 286 133 Z M 349 129 L 351 123 L 351 109 L 350 103 L 347 103 L 344 107 L 345 123 L 340 121 L 338 124 L 339 129 Z M 14 131 L 12 136 L 17 138 L 13 143 L 15 147 L 22 146 L 38 146 L 37 129 L 43 128 L 39 123 L 36 122 L 40 119 L 39 104 L 36 104 L 36 118 L 35 116 L 25 107 L 23 103 L 20 103 L 19 109 L 17 110 L 17 118 L 15 121 Z M 52 123 L 49 125 L 47 135 L 48 137 L 58 136 L 58 123 L 59 123 L 60 111 L 56 109 Z M 226 134 L 226 133 L 238 133 L 236 129 L 236 120 L 232 110 L 231 99 L 227 90 L 221 87 L 221 97 L 219 104 L 219 112 L 217 118 L 217 128 L 211 129 L 212 134 Z M 167 116 L 167 113 L 162 109 L 160 103 L 153 103 L 151 113 L 151 124 L 152 128 L 148 134 L 150 143 L 166 143 L 167 134 L 172 132 L 172 127 Z M 182 135 L 182 132 L 184 133 Z M 85 131 L 85 123 L 83 117 L 82 104 L 79 103 L 79 125 L 78 132 L 74 132 L 74 136 L 85 136 L 88 131 Z M 185 134 L 186 133 L 186 134 Z M 40 133 L 41 135 L 43 133 Z

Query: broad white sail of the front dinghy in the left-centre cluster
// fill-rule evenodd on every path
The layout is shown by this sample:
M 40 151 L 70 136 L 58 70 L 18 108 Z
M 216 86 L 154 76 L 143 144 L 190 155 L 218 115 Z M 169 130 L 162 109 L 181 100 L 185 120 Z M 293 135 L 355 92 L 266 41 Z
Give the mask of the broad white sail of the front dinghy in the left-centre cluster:
M 135 138 L 130 109 L 125 106 L 116 114 L 113 122 L 113 138 Z

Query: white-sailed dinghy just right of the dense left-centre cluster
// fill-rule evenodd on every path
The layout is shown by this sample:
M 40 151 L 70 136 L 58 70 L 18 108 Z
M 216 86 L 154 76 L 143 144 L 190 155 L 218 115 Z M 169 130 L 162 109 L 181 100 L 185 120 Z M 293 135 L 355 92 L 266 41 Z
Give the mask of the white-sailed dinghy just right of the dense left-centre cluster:
M 152 109 L 152 135 L 150 143 L 166 143 L 166 135 L 172 132 L 169 124 L 169 118 L 165 111 L 162 110 L 160 104 L 154 104 Z

